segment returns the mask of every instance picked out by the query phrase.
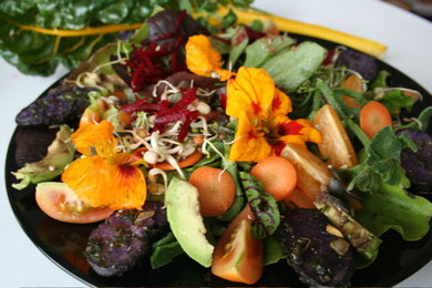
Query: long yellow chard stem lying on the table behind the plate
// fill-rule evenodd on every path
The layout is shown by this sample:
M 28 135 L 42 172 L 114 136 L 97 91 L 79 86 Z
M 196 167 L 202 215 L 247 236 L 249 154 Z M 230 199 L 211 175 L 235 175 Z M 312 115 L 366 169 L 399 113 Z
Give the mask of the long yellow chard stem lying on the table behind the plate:
M 269 13 L 259 13 L 251 9 L 248 10 L 240 10 L 237 8 L 232 8 L 232 9 L 237 14 L 237 19 L 238 19 L 237 21 L 239 23 L 247 24 L 253 22 L 254 20 L 272 21 L 277 25 L 277 28 L 281 31 L 329 40 L 342 45 L 357 49 L 367 54 L 378 56 L 378 58 L 381 58 L 387 50 L 385 45 L 378 43 L 376 41 L 351 35 L 329 28 L 325 28 L 316 24 L 308 24 L 295 20 L 289 20 Z M 220 8 L 217 13 L 219 16 L 225 16 L 228 13 L 228 11 L 229 11 L 228 8 Z

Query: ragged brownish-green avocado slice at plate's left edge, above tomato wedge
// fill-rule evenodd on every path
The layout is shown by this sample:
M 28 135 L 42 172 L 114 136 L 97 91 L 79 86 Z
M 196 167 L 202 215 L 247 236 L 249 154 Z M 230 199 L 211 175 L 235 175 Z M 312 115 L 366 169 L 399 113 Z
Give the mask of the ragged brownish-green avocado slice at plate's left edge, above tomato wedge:
M 21 179 L 20 183 L 12 184 L 12 187 L 23 189 L 31 183 L 51 181 L 62 174 L 75 154 L 75 147 L 70 141 L 71 135 L 72 130 L 68 125 L 62 125 L 43 160 L 27 163 L 24 167 L 12 172 L 17 179 Z

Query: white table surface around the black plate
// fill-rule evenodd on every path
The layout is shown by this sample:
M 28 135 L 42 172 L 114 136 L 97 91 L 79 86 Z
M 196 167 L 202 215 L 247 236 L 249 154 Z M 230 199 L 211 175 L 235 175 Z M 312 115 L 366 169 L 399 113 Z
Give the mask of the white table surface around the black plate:
M 432 92 L 432 23 L 376 0 L 257 0 L 257 8 L 290 19 L 320 24 L 389 47 L 384 61 Z M 4 163 L 17 113 L 65 73 L 24 76 L 0 59 L 0 163 Z M 0 287 L 84 287 L 51 263 L 25 236 L 10 208 L 1 165 Z M 431 286 L 432 263 L 400 286 Z

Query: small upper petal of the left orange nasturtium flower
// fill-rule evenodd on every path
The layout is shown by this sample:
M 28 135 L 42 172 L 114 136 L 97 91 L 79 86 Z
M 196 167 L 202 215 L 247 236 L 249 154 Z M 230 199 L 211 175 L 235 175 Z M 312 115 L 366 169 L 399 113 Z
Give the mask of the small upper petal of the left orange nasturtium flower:
M 101 123 L 91 124 L 79 128 L 71 135 L 76 151 L 86 156 L 94 152 L 101 156 L 110 156 L 115 150 L 114 126 L 110 121 L 103 120 Z

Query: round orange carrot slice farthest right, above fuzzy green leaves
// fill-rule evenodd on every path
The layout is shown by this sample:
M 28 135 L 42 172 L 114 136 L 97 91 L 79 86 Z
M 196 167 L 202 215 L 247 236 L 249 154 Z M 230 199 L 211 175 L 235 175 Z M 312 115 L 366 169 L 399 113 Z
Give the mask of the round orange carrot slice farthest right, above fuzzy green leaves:
M 361 109 L 360 127 L 369 138 L 372 138 L 381 128 L 390 125 L 390 112 L 381 103 L 371 101 Z

